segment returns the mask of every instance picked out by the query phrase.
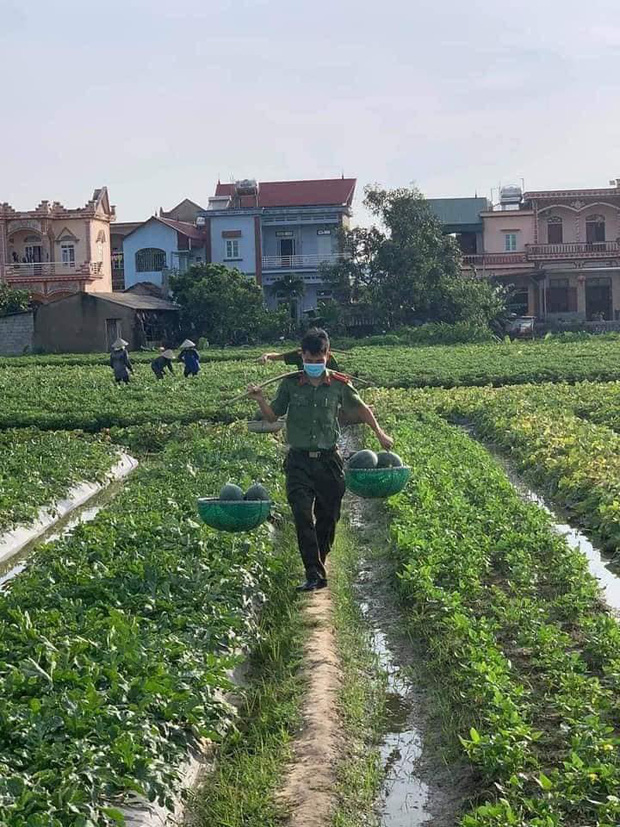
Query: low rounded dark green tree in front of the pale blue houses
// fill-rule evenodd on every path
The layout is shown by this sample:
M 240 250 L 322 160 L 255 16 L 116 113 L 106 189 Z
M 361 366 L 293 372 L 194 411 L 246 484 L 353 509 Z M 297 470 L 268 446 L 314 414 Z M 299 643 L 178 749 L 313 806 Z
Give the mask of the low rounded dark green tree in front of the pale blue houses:
M 223 264 L 191 267 L 170 276 L 186 335 L 216 344 L 244 344 L 289 333 L 286 312 L 270 313 L 255 281 Z M 277 336 L 276 336 L 277 334 Z

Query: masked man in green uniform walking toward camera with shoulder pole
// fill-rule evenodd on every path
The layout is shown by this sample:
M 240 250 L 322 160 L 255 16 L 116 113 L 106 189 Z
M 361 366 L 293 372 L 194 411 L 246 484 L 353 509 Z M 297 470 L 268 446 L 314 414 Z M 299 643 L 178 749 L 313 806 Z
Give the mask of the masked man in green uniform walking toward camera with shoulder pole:
M 248 394 L 258 402 L 268 422 L 288 412 L 286 494 L 306 569 L 306 581 L 298 591 L 314 591 L 327 585 L 325 559 L 334 541 L 344 496 L 343 463 L 336 445 L 339 410 L 353 413 L 369 425 L 383 448 L 391 448 L 394 440 L 379 427 L 349 377 L 326 367 L 329 338 L 324 330 L 309 330 L 301 341 L 301 353 L 303 371 L 282 380 L 271 404 L 257 385 L 250 385 Z

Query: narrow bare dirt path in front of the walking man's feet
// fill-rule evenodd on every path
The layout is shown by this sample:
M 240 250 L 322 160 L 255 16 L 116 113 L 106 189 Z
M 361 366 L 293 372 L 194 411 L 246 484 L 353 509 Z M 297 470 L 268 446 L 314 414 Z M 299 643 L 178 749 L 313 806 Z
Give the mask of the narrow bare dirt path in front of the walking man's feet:
M 336 797 L 336 763 L 343 742 L 337 714 L 340 671 L 328 589 L 304 598 L 307 681 L 303 725 L 280 798 L 290 827 L 328 827 Z

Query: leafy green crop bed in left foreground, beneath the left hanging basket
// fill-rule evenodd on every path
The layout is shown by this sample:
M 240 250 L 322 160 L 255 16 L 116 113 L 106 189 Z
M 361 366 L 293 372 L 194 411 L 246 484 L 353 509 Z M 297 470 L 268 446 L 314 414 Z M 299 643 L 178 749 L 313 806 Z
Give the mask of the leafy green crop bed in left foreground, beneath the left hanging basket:
M 188 745 L 229 726 L 233 652 L 255 638 L 252 604 L 284 552 L 267 526 L 245 541 L 207 529 L 195 499 L 229 478 L 279 498 L 277 450 L 239 426 L 159 426 L 157 439 L 114 502 L 0 597 L 6 827 L 121 823 L 127 792 L 165 800 Z

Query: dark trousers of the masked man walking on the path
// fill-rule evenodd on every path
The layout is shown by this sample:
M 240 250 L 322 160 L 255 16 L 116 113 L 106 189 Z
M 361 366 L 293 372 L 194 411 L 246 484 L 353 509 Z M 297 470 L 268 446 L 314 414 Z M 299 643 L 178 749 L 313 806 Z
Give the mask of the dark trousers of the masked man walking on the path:
M 342 457 L 331 451 L 289 450 L 284 465 L 301 559 L 309 580 L 327 577 L 330 552 L 344 496 Z

